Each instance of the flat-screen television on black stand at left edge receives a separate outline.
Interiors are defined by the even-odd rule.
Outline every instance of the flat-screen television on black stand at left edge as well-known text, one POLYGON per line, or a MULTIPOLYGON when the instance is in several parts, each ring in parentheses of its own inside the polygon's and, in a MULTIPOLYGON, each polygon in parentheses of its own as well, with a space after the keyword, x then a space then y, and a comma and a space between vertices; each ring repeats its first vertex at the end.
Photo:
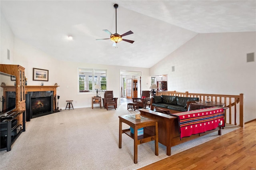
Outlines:
POLYGON ((0 72, 0 117, 16 108, 16 76, 0 72), (6 87, 6 91, 4 91, 6 87))

